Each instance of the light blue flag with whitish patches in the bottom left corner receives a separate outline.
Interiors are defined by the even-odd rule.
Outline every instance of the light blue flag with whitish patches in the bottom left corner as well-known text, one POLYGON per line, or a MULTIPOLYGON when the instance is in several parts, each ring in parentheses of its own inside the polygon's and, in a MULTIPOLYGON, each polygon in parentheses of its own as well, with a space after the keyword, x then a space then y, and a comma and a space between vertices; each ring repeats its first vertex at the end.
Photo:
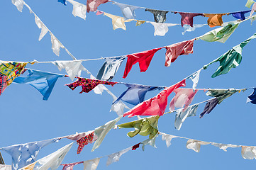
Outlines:
POLYGON ((23 166, 27 166, 35 162, 36 157, 40 149, 43 147, 57 142, 58 139, 43 140, 38 142, 30 142, 26 144, 12 145, 9 147, 2 147, 6 153, 10 154, 12 157, 12 169, 21 169, 23 166))

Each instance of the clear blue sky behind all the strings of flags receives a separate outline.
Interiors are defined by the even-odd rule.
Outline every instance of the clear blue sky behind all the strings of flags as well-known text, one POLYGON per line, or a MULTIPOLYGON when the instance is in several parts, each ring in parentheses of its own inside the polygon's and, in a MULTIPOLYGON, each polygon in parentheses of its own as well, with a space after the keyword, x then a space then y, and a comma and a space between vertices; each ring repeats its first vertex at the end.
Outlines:
MULTIPOLYGON (((182 35, 183 28, 174 26, 163 36, 154 36, 154 27, 150 23, 135 26, 135 21, 126 23, 127 30, 113 30, 111 19, 106 16, 96 16, 88 13, 87 19, 74 17, 72 15, 72 4, 67 6, 60 4, 57 0, 25 0, 38 17, 45 23, 52 33, 62 42, 77 59, 91 59, 99 57, 112 57, 128 55, 135 52, 150 50, 155 47, 172 45, 183 40, 190 40, 212 30, 204 26, 197 28, 194 32, 182 35)), ((77 0, 82 4, 86 1, 77 0)), ((233 11, 245 11, 246 1, 146 1, 146 0, 120 0, 118 2, 134 6, 148 8, 185 11, 195 13, 226 13, 233 11)), ((110 2, 99 6, 99 10, 106 11, 117 16, 122 16, 120 8, 110 2)), ((38 41, 40 29, 35 25, 34 16, 24 6, 23 12, 19 12, 11 0, 2 1, 1 11, 1 33, 0 33, 0 56, 1 60, 30 62, 72 60, 65 50, 60 50, 57 57, 51 49, 50 35, 45 35, 43 40, 38 41)), ((143 9, 135 11, 136 18, 153 21, 153 15, 143 9)), ((247 14, 248 16, 248 14, 247 14)), ((180 23, 179 14, 167 13, 166 23, 180 23)), ((223 21, 233 21, 233 16, 223 16, 223 21)), ((207 18, 197 16, 194 23, 207 23, 207 18)), ((216 27, 217 28, 217 27, 216 27)), ((126 60, 121 65, 113 81, 123 81, 132 84, 145 84, 154 86, 171 86, 178 81, 196 72, 204 64, 208 64, 220 57, 231 47, 238 45, 255 33, 255 23, 246 21, 241 23, 233 35, 226 41, 205 42, 196 40, 194 42, 194 54, 180 56, 170 67, 165 67, 165 49, 155 54, 146 72, 140 73, 138 64, 123 79, 123 71, 126 60)), ((228 74, 211 78, 218 67, 218 63, 212 64, 208 69, 201 71, 198 88, 211 89, 242 89, 256 86, 254 76, 255 67, 255 44, 252 40, 243 49, 243 60, 235 69, 228 74)), ((89 72, 96 76, 104 60, 83 62, 89 72)), ((66 74, 61 72, 53 64, 28 64, 27 68, 38 69, 46 72, 66 74)), ((89 78, 86 72, 81 77, 89 78)), ((0 97, 1 107, 1 145, 10 145, 48 140, 53 137, 72 135, 75 132, 86 132, 104 125, 109 120, 117 117, 116 113, 109 112, 113 98, 106 91, 102 95, 79 94, 81 87, 74 91, 64 86, 72 81, 69 78, 60 78, 48 101, 43 101, 43 96, 27 84, 11 84, 0 97)), ((187 87, 191 88, 190 80, 187 87)), ((107 86, 113 94, 119 96, 126 90, 122 84, 113 87, 107 86)), ((146 99, 155 96, 158 91, 149 92, 146 99)), ((204 118, 199 119, 199 114, 204 110, 204 104, 199 106, 196 116, 187 118, 181 130, 174 128, 174 113, 164 115, 159 119, 159 130, 170 135, 178 135, 196 140, 208 142, 219 142, 234 145, 256 146, 255 130, 255 106, 245 103, 252 90, 244 93, 234 94, 204 118)), ((172 100, 174 94, 169 96, 172 100)), ((206 92, 199 91, 193 103, 204 101, 209 96, 206 92)), ((133 106, 128 105, 130 108, 133 106)), ((169 110, 167 107, 166 111, 169 110)), ((119 123, 127 123, 136 118, 122 118, 119 123)), ((133 129, 111 130, 101 146, 91 152, 93 145, 84 147, 81 154, 77 155, 77 145, 65 157, 62 163, 80 162, 96 157, 105 156, 133 146, 138 142, 148 139, 136 135, 126 136, 133 129)), ((38 159, 55 152, 57 149, 72 142, 63 139, 60 142, 48 145, 41 149, 38 159)), ((252 169, 255 168, 255 160, 243 159, 241 148, 229 148, 224 152, 212 145, 201 146, 199 153, 186 147, 187 140, 174 139, 172 145, 167 148, 161 136, 157 137, 157 149, 147 146, 145 152, 141 148, 123 154, 119 162, 106 166, 106 158, 102 158, 98 169, 252 169)), ((1 152, 6 164, 11 164, 11 157, 1 152)), ((62 169, 62 167, 59 167, 62 169)), ((82 165, 74 166, 74 169, 82 169, 82 165)))

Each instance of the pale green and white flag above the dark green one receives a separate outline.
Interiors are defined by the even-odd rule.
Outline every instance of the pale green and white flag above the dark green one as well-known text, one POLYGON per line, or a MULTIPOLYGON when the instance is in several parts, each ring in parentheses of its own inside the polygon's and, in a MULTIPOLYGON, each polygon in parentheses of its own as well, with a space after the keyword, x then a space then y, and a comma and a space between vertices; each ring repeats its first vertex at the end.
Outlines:
POLYGON ((199 37, 201 40, 208 41, 208 42, 226 42, 230 35, 235 31, 236 28, 238 28, 240 22, 238 21, 231 21, 228 23, 224 23, 223 27, 217 28, 215 30, 211 30, 208 33, 205 33, 201 37, 199 37))

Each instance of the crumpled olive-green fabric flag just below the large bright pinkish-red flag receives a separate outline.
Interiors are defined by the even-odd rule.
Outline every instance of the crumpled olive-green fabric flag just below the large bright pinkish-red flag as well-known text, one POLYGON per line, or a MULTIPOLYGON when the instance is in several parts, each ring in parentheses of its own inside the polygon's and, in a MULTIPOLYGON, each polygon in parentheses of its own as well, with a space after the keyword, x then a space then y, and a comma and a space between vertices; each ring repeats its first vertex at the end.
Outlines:
POLYGON ((158 132, 158 119, 160 116, 151 116, 149 118, 142 118, 129 123, 123 123, 118 125, 118 128, 134 128, 133 132, 128 132, 128 137, 134 137, 135 135, 148 136, 150 139, 155 137, 158 132))

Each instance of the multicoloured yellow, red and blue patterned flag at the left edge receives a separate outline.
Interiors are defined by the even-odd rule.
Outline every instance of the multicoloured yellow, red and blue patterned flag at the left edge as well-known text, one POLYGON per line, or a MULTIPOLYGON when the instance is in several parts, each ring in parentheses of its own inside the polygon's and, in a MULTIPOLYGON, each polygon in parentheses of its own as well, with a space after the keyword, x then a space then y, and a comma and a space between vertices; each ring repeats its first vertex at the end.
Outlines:
POLYGON ((27 64, 27 62, 8 62, 0 60, 0 74, 6 76, 7 86, 24 72, 27 64))

